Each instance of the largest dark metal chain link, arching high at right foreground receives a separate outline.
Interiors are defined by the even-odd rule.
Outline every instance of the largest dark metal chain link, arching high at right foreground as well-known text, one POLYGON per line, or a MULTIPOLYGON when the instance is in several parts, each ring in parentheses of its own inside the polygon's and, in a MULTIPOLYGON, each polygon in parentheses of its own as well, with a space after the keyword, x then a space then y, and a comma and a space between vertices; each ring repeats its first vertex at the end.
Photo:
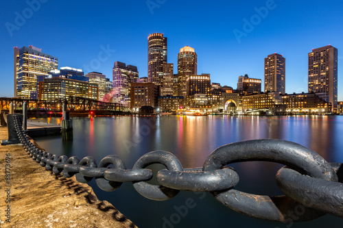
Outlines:
MULTIPOLYGON (((299 172, 325 180, 337 181, 335 170, 320 155, 294 142, 283 140, 250 140, 219 147, 211 153, 204 163, 204 170, 217 170, 227 164, 246 161, 278 162, 299 172)), ((285 222, 286 212, 295 210, 299 203, 289 197, 268 197, 248 194, 230 189, 211 192, 213 197, 236 212, 255 218, 285 222)), ((318 216, 313 209, 306 209, 299 221, 312 220, 318 216)))

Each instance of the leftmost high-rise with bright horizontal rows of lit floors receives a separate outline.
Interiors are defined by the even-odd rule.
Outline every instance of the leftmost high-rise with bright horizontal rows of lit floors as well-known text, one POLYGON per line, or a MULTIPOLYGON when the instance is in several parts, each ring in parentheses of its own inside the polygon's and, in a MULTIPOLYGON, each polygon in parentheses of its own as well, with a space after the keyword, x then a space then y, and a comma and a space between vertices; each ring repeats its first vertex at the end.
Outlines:
POLYGON ((14 47, 14 97, 30 98, 37 93, 37 76, 58 69, 58 58, 33 46, 14 47))

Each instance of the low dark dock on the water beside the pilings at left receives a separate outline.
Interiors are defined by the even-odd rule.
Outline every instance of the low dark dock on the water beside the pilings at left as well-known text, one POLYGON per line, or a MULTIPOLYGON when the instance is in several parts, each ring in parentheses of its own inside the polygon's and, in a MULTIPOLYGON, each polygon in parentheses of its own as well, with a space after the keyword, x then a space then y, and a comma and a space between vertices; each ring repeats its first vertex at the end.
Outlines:
POLYGON ((27 121, 27 135, 29 137, 38 136, 58 136, 61 134, 62 126, 51 123, 27 121))

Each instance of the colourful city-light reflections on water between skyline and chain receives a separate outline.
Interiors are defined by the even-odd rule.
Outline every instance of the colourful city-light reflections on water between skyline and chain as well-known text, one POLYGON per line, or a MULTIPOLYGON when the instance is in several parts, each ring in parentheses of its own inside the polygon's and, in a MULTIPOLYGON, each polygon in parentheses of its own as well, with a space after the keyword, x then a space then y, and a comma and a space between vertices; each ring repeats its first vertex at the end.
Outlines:
MULTIPOLYGON (((33 121, 58 123, 60 118, 33 121)), ((63 150, 80 156, 117 154, 132 161, 132 156, 165 150, 176 154, 185 167, 194 167, 202 166, 206 157, 224 144, 276 138, 309 147, 331 162, 342 162, 342 116, 117 116, 73 118, 73 128, 74 140, 64 143, 63 150)), ((45 144, 49 140, 38 139, 50 148, 45 144)), ((54 144, 61 148, 62 142, 54 144)))

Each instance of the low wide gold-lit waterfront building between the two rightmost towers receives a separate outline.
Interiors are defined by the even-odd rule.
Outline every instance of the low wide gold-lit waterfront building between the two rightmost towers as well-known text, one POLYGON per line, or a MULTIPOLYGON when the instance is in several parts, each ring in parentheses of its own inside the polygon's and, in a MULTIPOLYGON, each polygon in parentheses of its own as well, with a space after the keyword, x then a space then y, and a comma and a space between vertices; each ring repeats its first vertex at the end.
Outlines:
POLYGON ((321 98, 320 93, 283 94, 282 101, 288 114, 322 114, 331 111, 329 102, 321 98))

